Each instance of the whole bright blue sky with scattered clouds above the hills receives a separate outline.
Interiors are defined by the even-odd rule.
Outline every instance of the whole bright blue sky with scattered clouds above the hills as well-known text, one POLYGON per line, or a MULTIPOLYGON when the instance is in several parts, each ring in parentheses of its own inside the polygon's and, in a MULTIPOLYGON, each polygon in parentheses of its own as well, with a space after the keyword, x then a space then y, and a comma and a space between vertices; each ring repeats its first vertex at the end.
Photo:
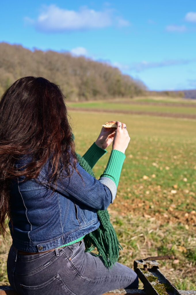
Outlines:
POLYGON ((150 90, 196 89, 196 1, 1 1, 0 42, 114 65, 150 90))

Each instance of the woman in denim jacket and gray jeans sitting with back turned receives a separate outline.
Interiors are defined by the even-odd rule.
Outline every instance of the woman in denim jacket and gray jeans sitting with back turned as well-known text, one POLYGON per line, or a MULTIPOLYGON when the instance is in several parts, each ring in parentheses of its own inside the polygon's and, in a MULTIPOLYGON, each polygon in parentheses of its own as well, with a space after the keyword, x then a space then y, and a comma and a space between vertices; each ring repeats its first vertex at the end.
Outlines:
POLYGON ((84 252, 83 238, 100 226, 96 210, 113 202, 124 152, 126 125, 102 128, 83 158, 92 168, 113 142, 99 180, 77 162, 64 97, 45 78, 17 80, 0 101, 0 229, 6 216, 13 240, 7 273, 19 294, 103 294, 137 288, 130 268, 103 264, 84 252))

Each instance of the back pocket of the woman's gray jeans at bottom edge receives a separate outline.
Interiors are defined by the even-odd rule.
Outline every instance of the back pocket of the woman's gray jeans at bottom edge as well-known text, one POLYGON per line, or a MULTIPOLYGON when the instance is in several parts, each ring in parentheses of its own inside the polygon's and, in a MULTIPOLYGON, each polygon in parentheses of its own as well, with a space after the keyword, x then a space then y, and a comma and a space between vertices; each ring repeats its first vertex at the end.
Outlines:
POLYGON ((20 287, 24 295, 75 295, 67 288, 58 273, 41 285, 25 286, 21 284, 20 287))

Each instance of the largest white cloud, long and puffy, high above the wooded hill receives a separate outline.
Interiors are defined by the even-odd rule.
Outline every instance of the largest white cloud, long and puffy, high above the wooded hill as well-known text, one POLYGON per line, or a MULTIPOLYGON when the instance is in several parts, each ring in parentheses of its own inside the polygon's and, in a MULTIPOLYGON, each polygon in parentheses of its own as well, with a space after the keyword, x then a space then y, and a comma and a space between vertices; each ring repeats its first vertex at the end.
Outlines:
POLYGON ((94 9, 81 7, 79 11, 74 11, 61 9, 51 4, 42 7, 42 12, 36 20, 29 19, 28 17, 25 17, 25 20, 42 32, 88 30, 109 27, 115 24, 120 27, 129 25, 128 21, 113 14, 112 9, 95 11, 94 9))

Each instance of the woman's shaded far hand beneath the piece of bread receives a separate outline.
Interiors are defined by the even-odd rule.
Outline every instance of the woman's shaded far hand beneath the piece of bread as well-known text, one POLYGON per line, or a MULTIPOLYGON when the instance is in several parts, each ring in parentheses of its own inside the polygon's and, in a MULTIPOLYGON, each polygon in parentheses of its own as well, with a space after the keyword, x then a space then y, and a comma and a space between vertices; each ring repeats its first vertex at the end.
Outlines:
POLYGON ((113 142, 114 135, 115 135, 114 128, 102 127, 100 135, 98 136, 97 140, 95 141, 95 144, 98 145, 98 147, 105 150, 113 142))

